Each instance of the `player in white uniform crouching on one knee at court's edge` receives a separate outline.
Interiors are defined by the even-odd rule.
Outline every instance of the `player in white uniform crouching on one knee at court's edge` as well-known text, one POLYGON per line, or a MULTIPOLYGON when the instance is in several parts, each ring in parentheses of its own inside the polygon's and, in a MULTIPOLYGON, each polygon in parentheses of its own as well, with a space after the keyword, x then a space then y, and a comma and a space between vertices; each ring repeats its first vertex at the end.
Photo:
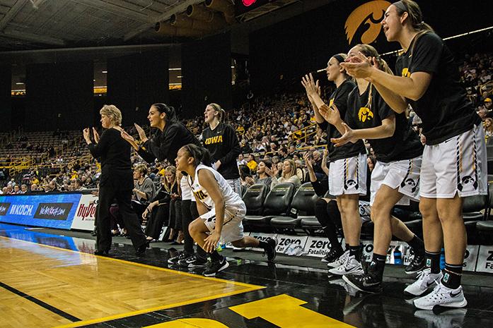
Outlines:
POLYGON ((238 248, 263 248, 267 260, 273 261, 277 242, 272 238, 259 241, 243 235, 245 203, 223 176, 210 167, 209 152, 194 144, 185 145, 178 150, 175 162, 178 171, 188 174, 187 181, 197 199, 200 217, 192 221, 189 231, 194 241, 211 257, 204 276, 213 277, 229 266, 226 258, 216 251, 219 241, 231 242, 238 248))

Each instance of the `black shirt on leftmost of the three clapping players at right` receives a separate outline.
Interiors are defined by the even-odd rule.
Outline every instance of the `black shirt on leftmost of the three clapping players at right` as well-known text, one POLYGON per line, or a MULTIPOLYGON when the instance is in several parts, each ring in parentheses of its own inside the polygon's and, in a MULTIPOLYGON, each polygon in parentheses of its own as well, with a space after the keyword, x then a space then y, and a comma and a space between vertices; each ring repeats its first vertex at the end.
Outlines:
MULTIPOLYGON (((339 114, 341 119, 344 120, 347 113, 347 97, 349 96, 349 92, 351 92, 356 85, 351 80, 345 80, 337 89, 332 92, 330 95, 329 106, 335 104, 337 109, 339 109, 339 114)), ((344 159, 349 157, 354 157, 358 154, 363 154, 365 152, 364 143, 361 140, 358 140, 355 143, 348 142, 346 145, 342 147, 335 147, 335 145, 330 142, 331 138, 340 138, 341 134, 339 130, 332 126, 332 124, 327 123, 327 121, 323 121, 323 123, 318 123, 318 126, 322 130, 327 131, 327 157, 329 158, 329 162, 335 162, 338 159, 344 159)))

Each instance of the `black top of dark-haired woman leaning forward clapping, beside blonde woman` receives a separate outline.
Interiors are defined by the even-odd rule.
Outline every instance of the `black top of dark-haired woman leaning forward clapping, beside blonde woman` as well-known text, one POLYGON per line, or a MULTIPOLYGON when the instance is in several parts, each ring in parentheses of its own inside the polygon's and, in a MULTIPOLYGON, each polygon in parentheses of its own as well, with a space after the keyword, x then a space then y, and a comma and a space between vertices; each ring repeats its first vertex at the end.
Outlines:
POLYGON ((144 142, 144 149, 139 148, 138 153, 148 163, 154 162, 155 159, 158 159, 159 162, 168 159, 174 165, 178 150, 189 143, 200 146, 195 135, 177 121, 166 124, 163 132, 158 130, 153 138, 144 142))

